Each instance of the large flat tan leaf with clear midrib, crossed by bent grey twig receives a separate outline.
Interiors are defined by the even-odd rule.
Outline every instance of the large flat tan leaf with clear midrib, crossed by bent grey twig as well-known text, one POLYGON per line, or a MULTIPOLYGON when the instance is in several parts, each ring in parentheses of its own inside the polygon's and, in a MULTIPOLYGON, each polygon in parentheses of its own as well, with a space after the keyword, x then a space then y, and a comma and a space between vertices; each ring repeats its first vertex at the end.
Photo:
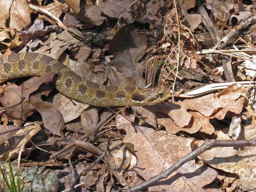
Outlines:
MULTIPOLYGON (((116 116, 116 125, 118 129, 126 131, 123 142, 137 156, 137 165, 132 170, 144 180, 163 172, 180 157, 191 152, 191 144, 194 142, 193 138, 170 136, 162 131, 154 132, 153 129, 133 125, 120 115, 116 116)), ((202 188, 217 175, 215 170, 190 161, 167 179, 148 187, 148 190, 204 191, 202 188)))

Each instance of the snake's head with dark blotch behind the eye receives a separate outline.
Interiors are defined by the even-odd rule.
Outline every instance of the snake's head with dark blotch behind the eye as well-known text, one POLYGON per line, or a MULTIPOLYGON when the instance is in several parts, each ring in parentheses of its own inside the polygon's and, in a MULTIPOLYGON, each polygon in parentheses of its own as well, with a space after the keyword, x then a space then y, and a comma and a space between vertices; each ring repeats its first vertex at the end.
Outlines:
POLYGON ((143 106, 162 102, 171 96, 171 89, 162 85, 160 87, 137 90, 132 94, 131 99, 134 106, 143 106))

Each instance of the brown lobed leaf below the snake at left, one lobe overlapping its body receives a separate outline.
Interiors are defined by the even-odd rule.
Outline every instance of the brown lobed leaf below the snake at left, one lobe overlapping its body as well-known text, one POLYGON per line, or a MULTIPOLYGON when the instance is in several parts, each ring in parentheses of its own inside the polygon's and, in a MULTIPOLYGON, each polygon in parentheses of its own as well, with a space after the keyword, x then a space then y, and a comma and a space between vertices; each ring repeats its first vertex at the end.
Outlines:
POLYGON ((54 72, 49 72, 41 77, 33 77, 20 86, 8 82, 7 85, 3 87, 4 94, 0 97, 0 102, 4 107, 13 106, 19 103, 22 97, 25 98, 22 104, 6 109, 8 118, 16 125, 21 126, 27 117, 34 112, 34 107, 29 102, 29 95, 36 91, 44 82, 51 82, 54 75, 54 72))

